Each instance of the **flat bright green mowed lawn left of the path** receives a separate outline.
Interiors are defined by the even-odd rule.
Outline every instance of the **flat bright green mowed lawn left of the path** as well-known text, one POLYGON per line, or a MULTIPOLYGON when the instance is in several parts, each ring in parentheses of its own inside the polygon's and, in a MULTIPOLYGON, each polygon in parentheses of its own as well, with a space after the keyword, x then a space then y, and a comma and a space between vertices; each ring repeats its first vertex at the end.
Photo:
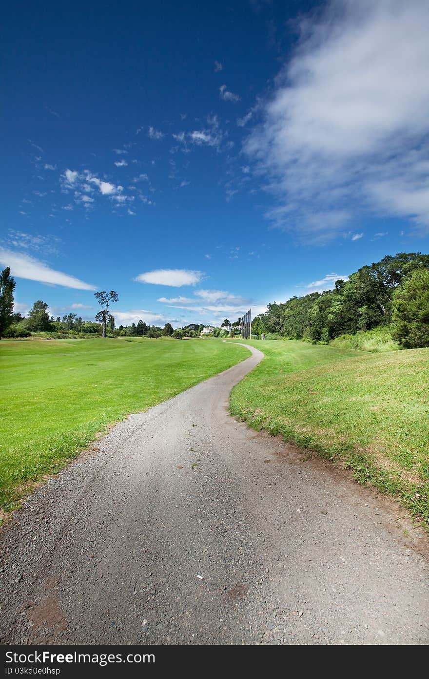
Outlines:
POLYGON ((217 339, 0 342, 0 507, 96 433, 246 359, 217 339))

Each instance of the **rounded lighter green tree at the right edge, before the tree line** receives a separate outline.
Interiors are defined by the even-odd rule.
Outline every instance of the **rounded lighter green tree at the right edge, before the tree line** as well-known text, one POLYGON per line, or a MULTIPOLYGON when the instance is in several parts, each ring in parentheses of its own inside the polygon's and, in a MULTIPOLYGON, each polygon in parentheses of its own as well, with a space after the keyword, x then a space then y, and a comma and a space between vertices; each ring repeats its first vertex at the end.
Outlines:
POLYGON ((393 339, 406 349, 429 346, 429 270, 416 269, 393 297, 393 339))

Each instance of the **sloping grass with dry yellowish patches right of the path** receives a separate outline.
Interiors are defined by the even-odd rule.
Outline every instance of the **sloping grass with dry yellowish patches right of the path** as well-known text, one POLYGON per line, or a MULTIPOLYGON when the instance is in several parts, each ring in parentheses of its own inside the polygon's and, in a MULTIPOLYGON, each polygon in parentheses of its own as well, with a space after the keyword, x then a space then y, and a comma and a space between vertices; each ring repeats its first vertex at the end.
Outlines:
POLYGON ((232 415, 342 464, 429 528, 429 349, 247 344, 266 359, 232 390, 232 415))

